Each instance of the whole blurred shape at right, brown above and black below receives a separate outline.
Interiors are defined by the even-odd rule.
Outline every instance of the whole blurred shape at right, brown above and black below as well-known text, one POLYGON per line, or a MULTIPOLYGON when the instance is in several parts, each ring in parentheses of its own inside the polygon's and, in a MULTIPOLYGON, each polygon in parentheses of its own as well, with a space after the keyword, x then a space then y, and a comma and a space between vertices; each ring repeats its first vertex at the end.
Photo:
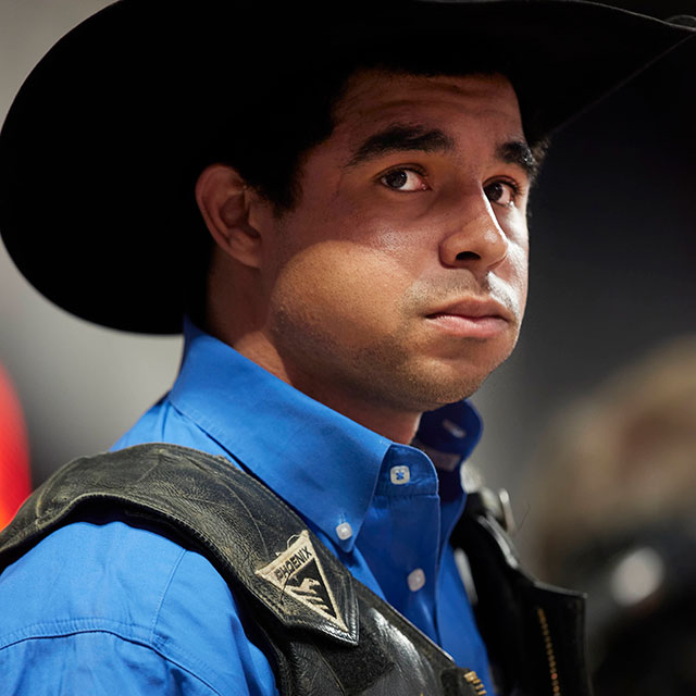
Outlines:
POLYGON ((537 572, 589 596, 597 696, 696 693, 696 337, 572 405, 531 478, 537 572))

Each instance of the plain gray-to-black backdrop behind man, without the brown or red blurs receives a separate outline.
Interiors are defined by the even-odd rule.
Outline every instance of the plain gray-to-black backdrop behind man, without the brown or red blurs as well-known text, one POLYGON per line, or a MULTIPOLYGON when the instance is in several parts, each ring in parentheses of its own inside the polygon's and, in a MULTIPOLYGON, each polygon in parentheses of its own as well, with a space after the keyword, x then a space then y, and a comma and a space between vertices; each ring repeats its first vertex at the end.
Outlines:
MULTIPOLYGON (((0 0, 0 119, 46 50, 105 4, 0 0)), ((696 0, 616 4, 659 17, 696 14, 696 0)), ((519 520, 533 514, 530 465, 549 418, 625 362, 696 330, 692 44, 559 135, 533 197, 522 339, 474 399, 486 427, 473 461, 513 493, 519 520)), ((29 287, 0 248, 0 360, 24 405, 35 484, 108 448, 166 390, 179 353, 178 338, 72 318, 29 287)))

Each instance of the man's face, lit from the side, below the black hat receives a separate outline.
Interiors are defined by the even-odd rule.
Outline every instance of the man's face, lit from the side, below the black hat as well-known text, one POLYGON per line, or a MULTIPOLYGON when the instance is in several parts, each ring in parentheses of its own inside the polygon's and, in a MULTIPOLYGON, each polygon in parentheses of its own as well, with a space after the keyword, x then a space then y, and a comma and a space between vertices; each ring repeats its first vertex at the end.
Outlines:
POLYGON ((355 75, 268 223, 265 332, 293 383, 408 412, 472 394, 519 335, 530 158, 501 76, 355 75))

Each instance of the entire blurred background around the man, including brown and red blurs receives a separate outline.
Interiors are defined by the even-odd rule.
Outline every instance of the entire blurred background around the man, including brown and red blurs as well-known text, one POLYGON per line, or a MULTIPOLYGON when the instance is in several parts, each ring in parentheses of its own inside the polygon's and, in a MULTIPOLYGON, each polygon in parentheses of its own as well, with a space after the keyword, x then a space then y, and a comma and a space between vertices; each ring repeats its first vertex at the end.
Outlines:
MULTIPOLYGON (((107 4, 0 0, 0 121, 40 57, 107 4)), ((696 0, 610 4, 660 18, 696 15, 696 0)), ((696 549, 695 86, 691 41, 555 138, 532 199, 522 337, 473 399, 485 421, 473 465, 490 487, 510 492, 527 563, 546 580, 593 589, 597 632, 621 608, 645 616, 659 605, 664 538, 681 539, 674 558, 696 549), (626 576, 634 585, 621 585, 626 576)), ((14 423, 17 471, 28 456, 35 486, 128 428, 169 388, 181 348, 177 337, 124 334, 66 314, 24 281, 0 245, 0 363, 4 413, 12 412, 0 428, 14 423)), ((13 485, 15 497, 28 487, 21 474, 13 485)), ((679 568, 696 580, 691 566, 679 568)), ((679 612, 693 619, 688 607, 679 612)), ((684 631, 681 643, 691 646, 680 654, 688 669, 694 633, 684 631)), ((596 664, 617 635, 593 638, 596 664)), ((689 674, 694 682, 684 678, 674 693, 692 693, 689 674)), ((643 693, 635 684, 617 688, 599 693, 643 693)))

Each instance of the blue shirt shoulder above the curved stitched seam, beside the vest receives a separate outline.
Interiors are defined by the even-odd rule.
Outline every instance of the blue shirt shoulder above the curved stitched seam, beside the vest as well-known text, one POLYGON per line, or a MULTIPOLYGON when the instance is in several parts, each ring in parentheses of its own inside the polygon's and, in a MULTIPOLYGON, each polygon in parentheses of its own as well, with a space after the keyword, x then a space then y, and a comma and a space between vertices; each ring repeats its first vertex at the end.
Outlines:
POLYGON ((215 688, 268 668, 212 564, 119 519, 63 526, 9 566, 0 575, 0 650, 115 636, 215 688))

